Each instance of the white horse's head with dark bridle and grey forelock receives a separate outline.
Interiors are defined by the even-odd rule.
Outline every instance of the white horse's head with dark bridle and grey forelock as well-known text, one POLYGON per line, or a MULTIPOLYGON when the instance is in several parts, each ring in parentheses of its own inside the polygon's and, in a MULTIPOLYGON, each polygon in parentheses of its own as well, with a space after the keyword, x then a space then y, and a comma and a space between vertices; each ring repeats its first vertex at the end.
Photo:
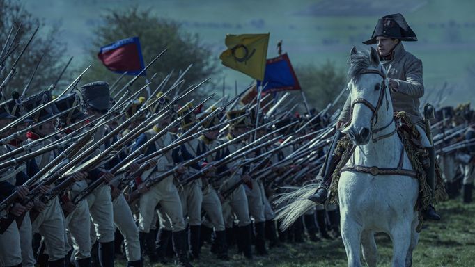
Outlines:
POLYGON ((388 113, 392 115, 385 77, 384 67, 373 47, 369 53, 357 51, 356 47, 351 49, 348 88, 352 120, 348 134, 356 145, 368 144, 375 125, 386 122, 388 113))

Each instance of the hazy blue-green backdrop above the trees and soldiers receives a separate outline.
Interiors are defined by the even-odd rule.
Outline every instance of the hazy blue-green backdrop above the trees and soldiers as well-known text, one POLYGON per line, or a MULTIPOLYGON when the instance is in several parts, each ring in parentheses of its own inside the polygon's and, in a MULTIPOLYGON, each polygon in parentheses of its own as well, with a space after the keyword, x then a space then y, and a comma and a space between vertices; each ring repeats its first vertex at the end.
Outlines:
MULTIPOLYGON (((471 80, 475 72, 475 1, 424 0, 26 0, 24 6, 47 26, 61 22, 62 38, 68 44, 68 55, 83 64, 86 50, 94 36, 91 29, 101 22, 110 9, 124 9, 134 4, 153 14, 175 19, 183 29, 198 33, 216 59, 224 47, 226 33, 270 32, 268 58, 277 56, 275 45, 283 40, 293 65, 334 62, 341 70, 348 67, 347 58, 353 45, 371 37, 379 17, 403 13, 419 42, 406 44, 407 50, 423 60, 427 88, 439 90, 444 82, 451 85, 448 104, 474 101, 471 80)), ((127 38, 130 36, 124 36, 127 38)), ((368 48, 368 47, 366 47, 368 48)), ((99 50, 99 47, 97 48, 99 50)), ((99 62, 93 62, 99 64, 99 62)), ((226 76, 226 85, 234 81, 248 84, 251 79, 226 67, 214 79, 226 76)))

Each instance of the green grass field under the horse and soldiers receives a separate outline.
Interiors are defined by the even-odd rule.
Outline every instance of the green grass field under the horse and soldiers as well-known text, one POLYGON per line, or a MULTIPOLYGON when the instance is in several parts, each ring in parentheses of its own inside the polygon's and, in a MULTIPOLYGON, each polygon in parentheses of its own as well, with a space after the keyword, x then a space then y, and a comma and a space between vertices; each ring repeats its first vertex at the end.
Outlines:
MULTIPOLYGON (((442 216, 439 223, 426 223, 421 232, 419 245, 414 251, 413 266, 475 266, 475 204, 462 204, 461 200, 449 200, 438 205, 442 216)), ((391 266, 391 242, 389 237, 378 235, 379 266, 391 266)), ((246 261, 231 250, 231 261, 217 261, 211 256, 208 246, 202 252, 202 259, 194 266, 346 266, 346 254, 341 238, 334 241, 299 244, 285 244, 270 250, 269 257, 255 257, 246 261)), ((125 261, 117 261, 124 266, 125 261)), ((150 266, 146 261, 146 266, 150 266)), ((154 266, 164 266, 156 264, 154 266)))

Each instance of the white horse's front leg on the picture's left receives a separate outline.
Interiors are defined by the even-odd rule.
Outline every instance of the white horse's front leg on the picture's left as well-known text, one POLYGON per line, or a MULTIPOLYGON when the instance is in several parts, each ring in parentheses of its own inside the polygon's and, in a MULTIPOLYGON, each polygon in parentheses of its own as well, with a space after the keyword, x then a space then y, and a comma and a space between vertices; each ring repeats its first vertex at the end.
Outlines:
POLYGON ((361 266, 361 231, 361 225, 348 213, 341 214, 341 237, 345 244, 349 267, 361 266))

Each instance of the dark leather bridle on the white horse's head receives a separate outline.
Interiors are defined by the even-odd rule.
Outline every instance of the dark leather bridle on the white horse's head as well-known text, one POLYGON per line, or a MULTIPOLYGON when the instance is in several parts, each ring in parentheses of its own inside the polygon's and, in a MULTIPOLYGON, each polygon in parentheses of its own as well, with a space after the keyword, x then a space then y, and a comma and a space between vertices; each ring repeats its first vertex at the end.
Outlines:
MULTIPOLYGON (((371 136, 373 136, 375 133, 379 133, 380 131, 386 129, 387 127, 391 126, 391 124, 394 122, 394 118, 389 122, 389 124, 385 125, 384 127, 373 129, 374 125, 377 123, 377 113, 380 111, 380 108, 382 106, 382 100, 383 98, 386 99, 386 108, 387 110, 389 109, 389 100, 387 99, 387 94, 386 94, 386 75, 384 74, 383 70, 374 70, 374 69, 366 69, 362 70, 359 74, 377 74, 381 76, 382 82, 380 86, 380 95, 377 98, 377 104, 376 106, 373 106, 368 100, 364 98, 357 98, 355 99, 352 104, 351 104, 351 113, 353 113, 353 108, 355 108, 355 104, 364 104, 367 108, 369 108, 372 112, 373 115, 371 116, 371 136)), ((373 138, 373 142, 377 142, 378 140, 387 138, 389 136, 392 136, 394 133, 396 133, 396 129, 392 131, 391 133, 385 134, 383 136, 379 136, 377 138, 373 138)))

